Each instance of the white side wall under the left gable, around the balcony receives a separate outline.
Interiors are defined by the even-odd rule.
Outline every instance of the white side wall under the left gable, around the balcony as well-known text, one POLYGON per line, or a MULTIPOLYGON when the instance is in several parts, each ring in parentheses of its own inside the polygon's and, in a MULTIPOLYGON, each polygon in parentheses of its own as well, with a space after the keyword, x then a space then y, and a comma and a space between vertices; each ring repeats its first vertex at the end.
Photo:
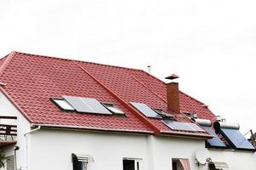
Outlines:
MULTIPOLYGON (((1 116, 17 116, 17 120, 15 121, 2 121, 1 123, 9 123, 17 125, 17 144, 20 146, 20 150, 17 151, 17 167, 26 167, 26 138, 24 137, 24 133, 30 130, 30 123, 27 122, 26 118, 20 114, 14 105, 9 102, 3 93, 0 93, 0 115, 1 116)), ((4 148, 6 156, 14 155, 14 146, 10 145, 4 148)))

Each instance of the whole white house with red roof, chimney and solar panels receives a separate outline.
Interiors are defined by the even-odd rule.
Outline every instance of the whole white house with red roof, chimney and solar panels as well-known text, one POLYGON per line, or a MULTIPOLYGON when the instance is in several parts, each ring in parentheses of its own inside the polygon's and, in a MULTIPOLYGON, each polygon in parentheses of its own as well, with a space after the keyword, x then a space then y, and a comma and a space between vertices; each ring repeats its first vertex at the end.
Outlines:
POLYGON ((256 167, 239 125, 180 92, 176 75, 166 84, 141 70, 18 52, 0 65, 2 169, 256 167))

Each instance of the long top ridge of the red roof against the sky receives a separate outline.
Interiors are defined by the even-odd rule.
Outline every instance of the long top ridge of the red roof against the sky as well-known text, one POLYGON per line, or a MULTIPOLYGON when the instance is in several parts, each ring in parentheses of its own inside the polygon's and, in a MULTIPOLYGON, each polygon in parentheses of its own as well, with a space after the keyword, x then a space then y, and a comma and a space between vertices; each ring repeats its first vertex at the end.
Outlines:
POLYGON ((55 57, 55 56, 49 56, 49 55, 40 55, 40 54, 27 54, 27 53, 21 53, 14 51, 16 54, 25 54, 25 55, 31 55, 35 57, 44 57, 44 58, 49 58, 49 59, 61 59, 61 60, 67 60, 67 61, 75 61, 75 62, 82 62, 82 63, 88 63, 92 65, 103 65, 103 66, 109 66, 109 67, 115 67, 119 69, 126 69, 126 70, 131 70, 131 71, 143 71, 142 69, 133 69, 133 68, 128 68, 124 66, 117 66, 117 65, 108 65, 108 64, 100 64, 92 61, 84 61, 84 60, 79 60, 79 59, 63 59, 62 57, 55 57))

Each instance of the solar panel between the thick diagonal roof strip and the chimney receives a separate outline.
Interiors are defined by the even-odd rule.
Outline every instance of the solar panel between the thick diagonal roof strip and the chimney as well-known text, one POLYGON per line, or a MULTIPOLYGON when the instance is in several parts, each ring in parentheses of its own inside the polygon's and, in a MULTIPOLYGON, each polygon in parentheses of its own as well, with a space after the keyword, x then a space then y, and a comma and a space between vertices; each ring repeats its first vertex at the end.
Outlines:
POLYGON ((136 102, 130 102, 138 111, 142 112, 143 115, 153 118, 161 118, 159 114, 153 111, 148 105, 136 102))

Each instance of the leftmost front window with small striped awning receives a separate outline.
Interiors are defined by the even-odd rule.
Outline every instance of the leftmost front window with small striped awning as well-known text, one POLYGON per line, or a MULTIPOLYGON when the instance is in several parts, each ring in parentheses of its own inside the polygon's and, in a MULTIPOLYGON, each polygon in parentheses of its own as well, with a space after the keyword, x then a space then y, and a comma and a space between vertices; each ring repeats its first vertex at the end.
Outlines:
POLYGON ((72 154, 73 170, 87 170, 89 162, 94 162, 92 156, 72 154))

